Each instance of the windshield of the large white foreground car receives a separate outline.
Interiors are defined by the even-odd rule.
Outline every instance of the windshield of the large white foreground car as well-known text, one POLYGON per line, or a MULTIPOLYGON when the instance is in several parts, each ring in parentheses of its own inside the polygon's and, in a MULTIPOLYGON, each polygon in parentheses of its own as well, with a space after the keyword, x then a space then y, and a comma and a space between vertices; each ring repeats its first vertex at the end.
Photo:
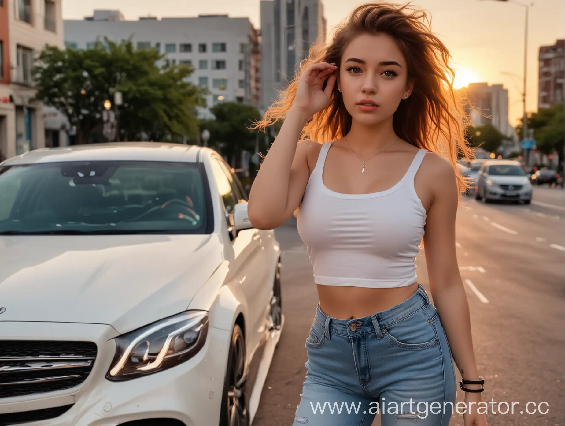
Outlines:
POLYGON ((197 163, 0 167, 0 235, 204 234, 206 188, 197 163))

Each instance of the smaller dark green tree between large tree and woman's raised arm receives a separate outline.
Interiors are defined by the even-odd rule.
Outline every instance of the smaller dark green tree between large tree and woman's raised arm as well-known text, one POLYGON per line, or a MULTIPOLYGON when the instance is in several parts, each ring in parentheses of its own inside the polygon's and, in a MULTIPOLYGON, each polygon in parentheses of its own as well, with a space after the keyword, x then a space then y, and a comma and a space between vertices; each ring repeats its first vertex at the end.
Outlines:
POLYGON ((201 131, 205 128, 210 131, 208 145, 227 157, 234 167, 243 150, 255 150, 258 131, 249 127, 260 118, 259 110, 253 105, 222 102, 212 106, 210 112, 215 119, 201 121, 201 131))

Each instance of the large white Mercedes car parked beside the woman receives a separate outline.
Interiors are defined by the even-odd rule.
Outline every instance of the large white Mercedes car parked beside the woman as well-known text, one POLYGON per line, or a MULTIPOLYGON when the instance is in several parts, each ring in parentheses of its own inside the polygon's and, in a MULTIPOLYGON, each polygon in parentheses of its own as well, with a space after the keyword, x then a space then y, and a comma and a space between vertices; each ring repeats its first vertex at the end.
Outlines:
POLYGON ((1 163, 0 424, 250 424, 284 325, 280 253, 209 148, 1 163))

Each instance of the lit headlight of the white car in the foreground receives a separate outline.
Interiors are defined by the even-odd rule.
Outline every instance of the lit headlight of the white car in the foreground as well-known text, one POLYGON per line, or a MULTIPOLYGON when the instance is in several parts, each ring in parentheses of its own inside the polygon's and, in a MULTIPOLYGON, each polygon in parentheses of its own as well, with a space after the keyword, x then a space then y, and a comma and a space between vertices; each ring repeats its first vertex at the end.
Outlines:
POLYGON ((186 311, 120 335, 106 378, 129 380, 174 367, 197 354, 207 334, 208 312, 186 311))

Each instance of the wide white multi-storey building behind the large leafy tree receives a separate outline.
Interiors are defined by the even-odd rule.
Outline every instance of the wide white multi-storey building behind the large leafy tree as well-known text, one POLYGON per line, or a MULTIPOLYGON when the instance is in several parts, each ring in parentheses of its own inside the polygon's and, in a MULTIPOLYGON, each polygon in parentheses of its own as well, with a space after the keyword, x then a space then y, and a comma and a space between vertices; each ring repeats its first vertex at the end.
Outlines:
POLYGON ((65 20, 64 37, 74 49, 88 49, 103 37, 115 42, 131 38, 136 49, 165 54, 159 65, 193 66, 190 81, 210 91, 207 108, 198 109, 199 118, 212 118, 208 108, 219 102, 259 106, 259 32, 248 18, 199 15, 125 20, 119 11, 95 10, 84 20, 65 20))

